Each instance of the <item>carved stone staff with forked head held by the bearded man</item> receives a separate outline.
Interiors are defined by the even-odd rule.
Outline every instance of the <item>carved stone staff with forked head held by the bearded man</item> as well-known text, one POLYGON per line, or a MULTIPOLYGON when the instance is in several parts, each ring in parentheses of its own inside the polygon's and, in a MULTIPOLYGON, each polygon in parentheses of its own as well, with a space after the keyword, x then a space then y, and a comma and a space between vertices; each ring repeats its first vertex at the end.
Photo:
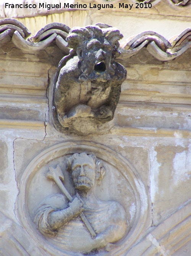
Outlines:
MULTIPOLYGON (((68 191, 66 190, 65 186, 62 183, 64 181, 64 175, 63 175, 62 170, 59 165, 57 165, 57 167, 55 169, 52 167, 49 167, 49 172, 47 172, 46 177, 51 180, 54 180, 57 183, 60 190, 62 191, 62 193, 68 198, 68 200, 70 202, 73 201, 73 198, 71 197, 70 193, 68 193, 68 191)), ((96 236, 95 231, 93 230, 92 226, 89 224, 84 213, 80 213, 79 216, 81 217, 81 220, 85 224, 85 226, 86 226, 87 230, 89 231, 89 233, 91 234, 91 236, 94 238, 96 236)))

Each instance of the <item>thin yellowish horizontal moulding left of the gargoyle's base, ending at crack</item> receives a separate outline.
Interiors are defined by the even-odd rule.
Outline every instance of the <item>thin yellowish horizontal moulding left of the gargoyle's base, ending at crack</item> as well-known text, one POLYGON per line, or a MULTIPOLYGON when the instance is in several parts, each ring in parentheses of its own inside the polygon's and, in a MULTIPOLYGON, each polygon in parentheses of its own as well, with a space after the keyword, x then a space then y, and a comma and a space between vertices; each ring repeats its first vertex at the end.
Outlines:
POLYGON ((44 129, 44 122, 0 119, 0 129, 44 129))

